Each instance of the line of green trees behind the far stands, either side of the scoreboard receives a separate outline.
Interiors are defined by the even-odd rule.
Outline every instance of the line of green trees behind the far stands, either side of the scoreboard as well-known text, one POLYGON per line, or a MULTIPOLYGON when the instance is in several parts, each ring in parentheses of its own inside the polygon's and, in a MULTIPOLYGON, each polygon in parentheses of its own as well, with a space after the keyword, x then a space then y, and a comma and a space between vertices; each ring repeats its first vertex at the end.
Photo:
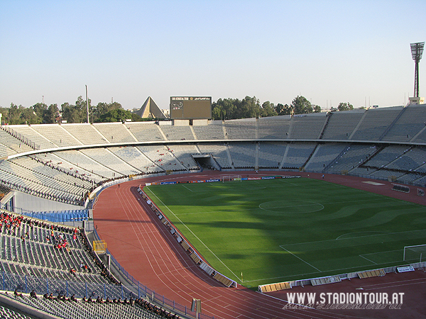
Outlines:
MULTIPOLYGON (((332 111, 348 111, 354 106, 349 102, 339 103, 337 109, 332 111)), ((266 116, 282 116, 290 114, 320 113, 321 107, 312 105, 305 96, 296 96, 289 104, 274 104, 270 101, 261 103, 256 96, 246 96, 244 99, 218 99, 212 103, 213 120, 233 120, 237 118, 260 118, 266 116)), ((11 103, 9 108, 0 107, 2 113, 2 123, 8 124, 41 124, 58 123, 58 121, 67 121, 67 123, 87 123, 87 102, 79 96, 74 104, 68 102, 62 103, 60 108, 58 104, 35 103, 26 108, 11 103), (60 115, 62 118, 60 118, 60 115)), ((131 111, 124 110, 118 102, 99 102, 97 106, 92 106, 89 99, 89 122, 119 122, 131 119, 132 121, 143 121, 131 111)))

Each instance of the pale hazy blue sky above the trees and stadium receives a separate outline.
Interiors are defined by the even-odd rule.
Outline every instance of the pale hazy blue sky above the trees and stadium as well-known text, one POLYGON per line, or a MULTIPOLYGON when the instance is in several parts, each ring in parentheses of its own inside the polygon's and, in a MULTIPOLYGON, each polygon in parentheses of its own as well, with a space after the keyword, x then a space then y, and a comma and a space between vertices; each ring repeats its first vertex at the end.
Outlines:
POLYGON ((148 96, 402 105, 425 14, 425 0, 0 0, 0 106, 75 103, 85 84, 92 105, 124 108, 148 96))

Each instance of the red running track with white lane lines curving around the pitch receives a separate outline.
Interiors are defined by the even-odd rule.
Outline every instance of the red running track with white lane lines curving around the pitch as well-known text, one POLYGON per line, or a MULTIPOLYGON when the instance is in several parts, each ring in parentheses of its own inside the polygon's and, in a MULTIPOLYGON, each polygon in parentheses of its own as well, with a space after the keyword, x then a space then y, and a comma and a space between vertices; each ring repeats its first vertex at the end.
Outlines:
MULTIPOLYGON (((359 311, 337 313, 335 310, 283 309, 288 303, 279 298, 256 293, 242 286, 237 289, 226 288, 197 267, 136 191, 139 184, 154 180, 206 179, 219 174, 221 173, 182 174, 138 179, 122 183, 120 186, 111 186, 102 191, 94 206, 93 216, 97 233, 107 242, 108 250, 114 258, 141 284, 188 308, 192 298, 201 299, 202 313, 214 315, 214 318, 374 318, 368 316, 366 312, 359 311)), ((245 176, 253 172, 238 172, 238 174, 245 176)), ((262 174, 295 173, 262 172, 262 174)), ((318 179, 320 174, 310 173, 310 178, 318 179)), ((331 181, 332 177, 327 175, 326 178, 331 181)), ((356 188, 364 186, 371 188, 370 184, 360 181, 361 179, 346 177, 337 182, 351 184, 350 186, 356 188)), ((368 189, 368 191, 375 190, 368 189)), ((393 191, 391 195, 393 193, 400 196, 398 192, 393 191)), ((422 288, 425 288, 424 285, 422 288)), ((338 292, 337 289, 335 291, 338 292)), ((402 318, 400 315, 399 312, 395 318, 402 318)))

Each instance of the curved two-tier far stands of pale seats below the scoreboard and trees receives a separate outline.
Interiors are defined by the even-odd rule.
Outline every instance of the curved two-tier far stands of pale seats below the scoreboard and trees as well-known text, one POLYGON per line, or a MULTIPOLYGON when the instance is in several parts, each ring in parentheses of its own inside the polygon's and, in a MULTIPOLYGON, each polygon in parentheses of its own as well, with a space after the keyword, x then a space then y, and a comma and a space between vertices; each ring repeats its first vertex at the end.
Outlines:
POLYGON ((212 121, 198 126, 153 122, 6 125, 0 130, 0 158, 9 159, 0 162, 1 184, 78 206, 84 194, 102 182, 197 170, 200 167, 192 155, 208 154, 220 169, 303 168, 377 179, 396 177, 421 186, 426 174, 420 144, 426 141, 424 107, 212 121), (182 140, 188 144, 178 143, 182 140), (364 142, 372 140, 380 144, 364 142), (107 147, 111 143, 114 146, 107 147), (102 147, 82 148, 99 144, 102 147), (58 150, 43 152, 46 148, 58 150), (35 154, 19 157, 23 152, 35 154))

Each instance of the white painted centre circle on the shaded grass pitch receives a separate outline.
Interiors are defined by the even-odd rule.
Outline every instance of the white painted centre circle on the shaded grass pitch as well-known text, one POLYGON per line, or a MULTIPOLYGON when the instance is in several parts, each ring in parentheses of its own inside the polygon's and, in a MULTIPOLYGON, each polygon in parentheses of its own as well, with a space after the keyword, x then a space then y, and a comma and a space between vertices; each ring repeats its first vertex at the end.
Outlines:
POLYGON ((261 203, 259 208, 263 211, 273 211, 277 213, 299 214, 299 213, 314 213, 322 211, 324 206, 313 201, 295 201, 292 199, 285 201, 266 201, 261 203))

